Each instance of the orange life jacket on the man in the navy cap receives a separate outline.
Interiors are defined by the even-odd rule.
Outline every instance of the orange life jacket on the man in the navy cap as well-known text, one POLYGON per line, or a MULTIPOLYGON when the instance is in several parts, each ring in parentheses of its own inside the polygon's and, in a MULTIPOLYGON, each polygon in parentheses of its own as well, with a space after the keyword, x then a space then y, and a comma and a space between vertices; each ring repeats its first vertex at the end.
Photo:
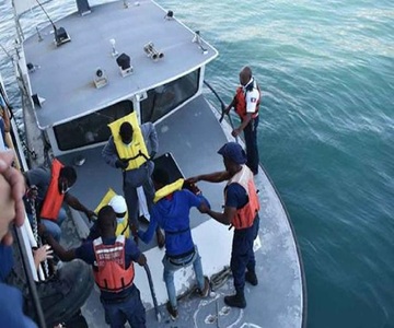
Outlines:
POLYGON ((227 187, 224 188, 224 198, 227 197, 227 188, 231 184, 240 184, 246 190, 248 198, 247 203, 243 208, 236 209, 236 213, 232 219, 231 224, 236 230, 250 227, 253 225, 253 221, 259 210, 259 201, 252 171, 246 165, 242 165, 242 169, 228 181, 227 187))

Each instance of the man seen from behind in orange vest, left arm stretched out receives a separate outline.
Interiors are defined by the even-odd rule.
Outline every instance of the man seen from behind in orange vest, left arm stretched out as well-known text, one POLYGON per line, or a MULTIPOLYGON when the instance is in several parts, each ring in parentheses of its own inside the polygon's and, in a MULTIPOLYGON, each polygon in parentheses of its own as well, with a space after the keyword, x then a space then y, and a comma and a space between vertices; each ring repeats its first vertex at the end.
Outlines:
POLYGON ((124 327, 126 321, 132 328, 146 327, 146 311, 140 292, 134 284, 134 261, 140 266, 147 258, 129 238, 116 236, 116 214, 111 206, 99 212, 97 226, 101 236, 88 241, 78 248, 63 249, 48 234, 44 225, 40 234, 62 261, 82 259, 93 267, 94 280, 101 291, 101 302, 105 311, 105 321, 113 328, 124 327))

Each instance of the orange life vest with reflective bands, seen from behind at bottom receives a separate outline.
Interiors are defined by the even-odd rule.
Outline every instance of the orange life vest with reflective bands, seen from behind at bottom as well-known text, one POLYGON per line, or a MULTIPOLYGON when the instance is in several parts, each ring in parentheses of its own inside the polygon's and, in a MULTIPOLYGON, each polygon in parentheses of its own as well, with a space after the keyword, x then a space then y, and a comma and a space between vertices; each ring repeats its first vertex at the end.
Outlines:
POLYGON ((125 236, 116 237, 115 244, 104 245, 102 238, 93 241, 94 247, 94 280, 100 290, 118 293, 132 284, 134 263, 126 268, 125 236))

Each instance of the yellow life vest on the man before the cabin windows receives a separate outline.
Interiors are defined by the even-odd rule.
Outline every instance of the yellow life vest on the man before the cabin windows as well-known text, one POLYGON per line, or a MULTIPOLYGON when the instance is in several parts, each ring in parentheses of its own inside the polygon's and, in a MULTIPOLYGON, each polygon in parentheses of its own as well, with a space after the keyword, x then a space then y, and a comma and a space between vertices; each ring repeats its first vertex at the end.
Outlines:
POLYGON ((136 169, 140 167, 149 159, 148 149, 143 140, 141 128, 138 125, 137 113, 132 112, 108 125, 112 136, 114 138, 116 151, 120 160, 136 157, 138 154, 143 154, 137 156, 135 160, 129 161, 126 171, 136 169), (123 122, 128 121, 132 126, 132 141, 131 144, 127 145, 121 141, 119 129, 123 122))

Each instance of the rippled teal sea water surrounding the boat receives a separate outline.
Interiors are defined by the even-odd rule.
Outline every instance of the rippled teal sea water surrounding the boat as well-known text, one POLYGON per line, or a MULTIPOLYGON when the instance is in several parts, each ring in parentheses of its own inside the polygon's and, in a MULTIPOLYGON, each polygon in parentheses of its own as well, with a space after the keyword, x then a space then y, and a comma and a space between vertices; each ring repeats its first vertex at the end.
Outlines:
MULTIPOLYGON (((308 327, 394 327, 393 0, 158 2, 217 47, 207 80, 224 102, 245 65, 260 84, 260 162, 301 247, 308 327)), ((9 0, 0 11, 12 54, 9 0)))

